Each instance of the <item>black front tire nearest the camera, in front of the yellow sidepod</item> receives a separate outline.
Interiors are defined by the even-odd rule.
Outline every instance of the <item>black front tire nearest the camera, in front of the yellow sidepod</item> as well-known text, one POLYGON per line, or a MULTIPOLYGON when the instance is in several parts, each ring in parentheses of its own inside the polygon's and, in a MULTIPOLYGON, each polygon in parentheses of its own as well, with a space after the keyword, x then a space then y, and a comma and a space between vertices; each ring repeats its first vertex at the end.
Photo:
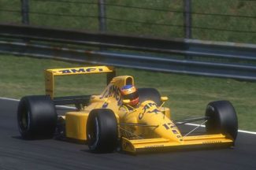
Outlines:
POLYGON ((87 142, 95 153, 110 153, 117 148, 117 119, 110 109, 93 109, 87 119, 87 142))

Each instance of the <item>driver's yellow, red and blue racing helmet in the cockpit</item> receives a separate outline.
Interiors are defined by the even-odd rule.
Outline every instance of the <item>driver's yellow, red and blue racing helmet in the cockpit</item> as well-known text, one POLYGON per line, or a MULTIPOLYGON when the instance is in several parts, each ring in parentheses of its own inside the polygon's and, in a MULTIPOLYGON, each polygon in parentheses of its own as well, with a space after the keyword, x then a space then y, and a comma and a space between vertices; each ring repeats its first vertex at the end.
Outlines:
POLYGON ((139 93, 133 85, 125 85, 124 87, 121 87, 121 95, 124 100, 130 100, 128 105, 137 105, 139 103, 139 93))

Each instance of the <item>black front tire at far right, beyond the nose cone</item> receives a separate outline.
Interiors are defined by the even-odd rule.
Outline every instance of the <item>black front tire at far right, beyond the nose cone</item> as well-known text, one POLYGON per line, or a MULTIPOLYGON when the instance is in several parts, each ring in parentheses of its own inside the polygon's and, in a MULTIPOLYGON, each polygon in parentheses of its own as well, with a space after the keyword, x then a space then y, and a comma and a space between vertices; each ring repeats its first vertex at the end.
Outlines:
POLYGON ((223 133, 234 141, 238 131, 236 110, 231 102, 216 101, 210 102, 206 107, 206 131, 210 134, 223 133))

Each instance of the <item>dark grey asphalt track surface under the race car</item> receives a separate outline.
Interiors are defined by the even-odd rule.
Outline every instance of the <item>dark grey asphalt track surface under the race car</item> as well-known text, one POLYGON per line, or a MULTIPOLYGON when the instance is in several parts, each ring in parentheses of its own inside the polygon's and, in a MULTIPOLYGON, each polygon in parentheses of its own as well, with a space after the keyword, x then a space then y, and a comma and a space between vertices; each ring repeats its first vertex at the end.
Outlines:
POLYGON ((0 169, 256 169, 256 135, 239 133, 234 149, 183 150, 136 156, 90 153, 57 139, 20 139, 17 103, 0 99, 0 169))

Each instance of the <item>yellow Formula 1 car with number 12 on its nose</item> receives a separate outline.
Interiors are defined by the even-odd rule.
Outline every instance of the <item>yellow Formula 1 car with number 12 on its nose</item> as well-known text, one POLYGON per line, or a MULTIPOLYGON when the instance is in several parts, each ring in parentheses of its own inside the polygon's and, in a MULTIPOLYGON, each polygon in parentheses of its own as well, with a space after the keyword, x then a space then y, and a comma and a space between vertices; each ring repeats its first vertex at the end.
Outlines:
POLYGON ((236 141, 237 116, 228 101, 210 102, 205 116, 174 121, 170 109, 163 106, 168 98, 161 97, 154 88, 139 88, 139 105, 127 109, 130 101, 122 98, 120 88, 133 85, 134 79, 116 76, 113 67, 48 69, 45 83, 46 95, 25 96, 18 105, 17 122, 24 139, 52 138, 58 131, 66 139, 86 142, 89 150, 96 153, 113 152, 117 148, 138 153, 193 146, 234 146, 236 141), (54 97, 55 76, 104 72, 107 86, 102 94, 54 97), (76 105, 76 110, 58 116, 56 105, 71 104, 76 105), (191 135, 193 129, 184 135, 178 128, 180 124, 198 120, 206 125, 205 134, 191 135))

